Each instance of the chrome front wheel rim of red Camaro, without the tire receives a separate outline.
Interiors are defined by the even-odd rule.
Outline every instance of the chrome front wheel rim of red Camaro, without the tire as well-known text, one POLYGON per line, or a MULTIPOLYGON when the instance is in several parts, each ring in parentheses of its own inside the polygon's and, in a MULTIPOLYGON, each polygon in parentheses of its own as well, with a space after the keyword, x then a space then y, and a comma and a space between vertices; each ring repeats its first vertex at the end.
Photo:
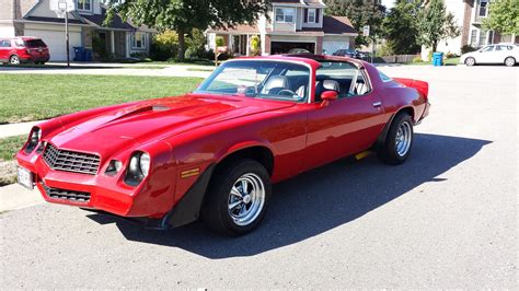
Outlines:
POLYGON ((228 211, 237 225, 254 222, 265 205, 265 186, 253 173, 246 173, 233 184, 228 199, 228 211))

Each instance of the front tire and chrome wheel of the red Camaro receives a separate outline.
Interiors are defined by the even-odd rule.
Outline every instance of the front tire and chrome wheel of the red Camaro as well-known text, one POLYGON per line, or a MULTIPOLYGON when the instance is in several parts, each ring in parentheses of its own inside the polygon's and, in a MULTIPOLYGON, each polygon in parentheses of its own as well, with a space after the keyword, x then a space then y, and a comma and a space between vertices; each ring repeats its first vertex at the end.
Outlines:
POLYGON ((265 217, 272 194, 266 168, 251 159, 219 166, 201 209, 205 224, 221 234, 238 236, 254 230, 265 217))

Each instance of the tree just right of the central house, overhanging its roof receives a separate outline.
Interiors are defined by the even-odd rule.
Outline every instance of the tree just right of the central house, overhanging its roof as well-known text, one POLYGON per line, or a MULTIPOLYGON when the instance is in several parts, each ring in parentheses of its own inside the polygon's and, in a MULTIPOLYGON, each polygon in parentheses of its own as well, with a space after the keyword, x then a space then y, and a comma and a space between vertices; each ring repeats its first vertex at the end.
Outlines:
POLYGON ((370 26, 369 38, 359 34, 355 39, 357 47, 368 45, 377 35, 382 34, 382 20, 385 8, 372 0, 326 0, 326 13, 335 16, 347 16, 355 30, 362 31, 365 25, 370 26))

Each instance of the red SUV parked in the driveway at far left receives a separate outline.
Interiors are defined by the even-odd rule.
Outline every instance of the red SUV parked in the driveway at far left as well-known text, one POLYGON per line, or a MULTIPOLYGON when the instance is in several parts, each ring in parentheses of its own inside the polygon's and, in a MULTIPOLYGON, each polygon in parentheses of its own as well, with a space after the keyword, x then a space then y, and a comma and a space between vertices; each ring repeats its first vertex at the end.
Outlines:
POLYGON ((49 58, 47 45, 41 38, 32 36, 0 38, 0 62, 2 63, 34 62, 44 65, 49 58))

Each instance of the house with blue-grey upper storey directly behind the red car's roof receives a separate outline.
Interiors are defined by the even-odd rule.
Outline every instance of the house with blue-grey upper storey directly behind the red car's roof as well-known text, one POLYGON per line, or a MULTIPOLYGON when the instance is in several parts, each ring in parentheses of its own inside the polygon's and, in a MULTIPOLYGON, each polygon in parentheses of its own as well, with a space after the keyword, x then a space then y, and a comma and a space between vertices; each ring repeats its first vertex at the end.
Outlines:
POLYGON ((273 0, 268 18, 262 15, 256 25, 237 25, 221 30, 209 28, 208 48, 216 48, 216 37, 223 37, 231 54, 252 54, 251 39, 261 39, 262 55, 285 54, 303 48, 313 54, 333 54, 354 48, 358 35, 350 21, 325 15, 321 0, 273 0))

